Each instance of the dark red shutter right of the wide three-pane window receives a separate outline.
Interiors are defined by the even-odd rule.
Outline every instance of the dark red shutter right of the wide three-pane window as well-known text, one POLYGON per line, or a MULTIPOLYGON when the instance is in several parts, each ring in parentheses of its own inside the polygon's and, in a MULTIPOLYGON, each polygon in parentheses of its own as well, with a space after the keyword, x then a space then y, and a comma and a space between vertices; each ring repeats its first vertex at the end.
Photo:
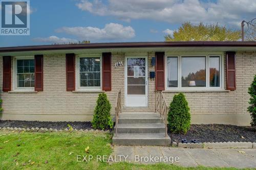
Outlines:
POLYGON ((236 90, 236 56, 235 52, 226 53, 227 90, 236 90))

